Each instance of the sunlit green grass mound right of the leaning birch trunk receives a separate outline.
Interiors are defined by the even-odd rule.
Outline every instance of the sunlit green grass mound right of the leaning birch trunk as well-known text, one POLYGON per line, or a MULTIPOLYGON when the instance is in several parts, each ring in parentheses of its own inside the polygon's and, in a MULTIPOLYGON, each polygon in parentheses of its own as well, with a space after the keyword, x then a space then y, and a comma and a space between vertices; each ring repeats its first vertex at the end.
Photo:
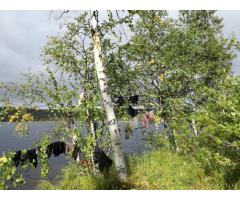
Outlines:
POLYGON ((134 189, 192 190, 221 189, 221 184, 206 176, 197 162, 167 150, 128 158, 129 181, 134 189))

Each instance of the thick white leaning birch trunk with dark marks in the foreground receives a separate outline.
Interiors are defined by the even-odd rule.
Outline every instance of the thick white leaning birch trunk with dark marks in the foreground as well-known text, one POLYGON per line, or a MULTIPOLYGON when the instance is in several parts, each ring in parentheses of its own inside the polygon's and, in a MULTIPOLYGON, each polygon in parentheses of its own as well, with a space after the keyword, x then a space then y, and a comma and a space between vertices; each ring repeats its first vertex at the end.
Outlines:
POLYGON ((113 110, 113 103, 110 95, 108 94, 107 79, 104 72, 104 66, 102 63, 101 41, 100 41, 99 33, 96 30, 96 24, 97 24, 97 21, 95 19, 95 16, 93 15, 93 19, 91 21, 91 34, 92 34, 92 41, 93 41, 93 47, 94 47, 93 50, 94 50, 95 68, 97 72, 97 77, 98 77, 98 82, 100 86, 101 96, 103 99, 104 108, 107 115, 116 171, 119 179, 121 181, 126 181, 127 173, 126 173, 125 161, 124 161, 121 142, 120 142, 120 133, 119 133, 115 113, 113 110))

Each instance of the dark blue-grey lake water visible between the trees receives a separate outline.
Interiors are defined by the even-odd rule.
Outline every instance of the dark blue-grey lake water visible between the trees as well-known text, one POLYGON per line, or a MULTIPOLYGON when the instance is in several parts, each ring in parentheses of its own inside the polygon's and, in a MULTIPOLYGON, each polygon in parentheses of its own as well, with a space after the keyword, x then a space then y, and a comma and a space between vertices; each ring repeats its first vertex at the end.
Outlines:
MULTIPOLYGON (((146 132, 151 132, 155 126, 150 124, 149 128, 142 129, 141 127, 133 131, 133 135, 129 136, 129 139, 125 138, 124 128, 126 123, 119 122, 119 128, 121 133, 121 143, 123 152, 125 154, 141 153, 146 151, 146 132)), ((140 123, 139 123, 139 126, 140 123)), ((43 136, 44 132, 50 131, 54 128, 54 122, 33 122, 30 125, 30 134, 27 136, 19 136, 14 131, 15 124, 1 123, 0 125, 0 155, 3 152, 18 151, 21 149, 34 148, 34 144, 38 142, 43 136)), ((57 183, 60 179, 61 169, 68 164, 68 159, 65 155, 59 157, 51 156, 49 159, 49 174, 47 179, 52 183, 57 183)), ((38 189, 40 176, 40 166, 37 168, 31 168, 24 171, 24 177, 26 183, 17 189, 38 189)))

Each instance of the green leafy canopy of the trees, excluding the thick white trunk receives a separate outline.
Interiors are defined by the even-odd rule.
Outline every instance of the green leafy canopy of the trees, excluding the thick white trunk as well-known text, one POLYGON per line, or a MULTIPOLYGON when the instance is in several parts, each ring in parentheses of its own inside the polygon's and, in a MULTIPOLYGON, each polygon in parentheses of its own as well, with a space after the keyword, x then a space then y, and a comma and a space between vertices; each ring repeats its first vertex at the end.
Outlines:
MULTIPOLYGON (((62 140, 76 136, 88 148, 87 158, 96 144, 102 145, 102 137, 109 138, 103 126, 92 129, 95 122, 104 122, 106 107, 95 69, 91 19, 90 11, 80 12, 59 36, 49 37, 42 52, 44 72, 25 73, 24 83, 1 84, 0 113, 27 133, 32 118, 26 108, 46 105, 59 122, 55 133, 62 140), (9 114, 14 98, 22 105, 9 114), (69 126, 71 119, 86 123, 94 134, 80 136, 79 127, 69 126)), ((99 11, 96 20, 107 93, 117 118, 127 116, 129 104, 118 105, 117 99, 138 95, 142 112, 152 110, 154 123, 166 128, 166 134, 152 134, 152 148, 191 155, 206 173, 223 172, 229 188, 239 184, 240 79, 231 73, 239 46, 234 37, 224 36, 216 12, 179 11, 173 19, 167 11, 99 11)), ((0 179, 0 186, 11 178, 10 173, 0 179)))

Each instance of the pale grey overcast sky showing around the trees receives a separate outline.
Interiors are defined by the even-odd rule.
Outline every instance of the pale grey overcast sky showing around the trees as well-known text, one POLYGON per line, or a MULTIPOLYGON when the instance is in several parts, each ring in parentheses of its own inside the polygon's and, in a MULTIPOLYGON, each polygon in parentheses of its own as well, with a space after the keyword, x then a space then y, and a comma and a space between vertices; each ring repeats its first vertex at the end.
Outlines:
MULTIPOLYGON (((234 33, 240 40, 240 11, 218 11, 224 19, 224 33, 234 33)), ((47 36, 59 32, 60 21, 50 11, 0 11, 0 80, 19 80, 28 68, 44 69, 40 58, 47 36)), ((56 15, 56 13, 55 13, 56 15)), ((176 16, 176 11, 170 11, 176 16)), ((240 74, 240 56, 233 71, 240 74)))

